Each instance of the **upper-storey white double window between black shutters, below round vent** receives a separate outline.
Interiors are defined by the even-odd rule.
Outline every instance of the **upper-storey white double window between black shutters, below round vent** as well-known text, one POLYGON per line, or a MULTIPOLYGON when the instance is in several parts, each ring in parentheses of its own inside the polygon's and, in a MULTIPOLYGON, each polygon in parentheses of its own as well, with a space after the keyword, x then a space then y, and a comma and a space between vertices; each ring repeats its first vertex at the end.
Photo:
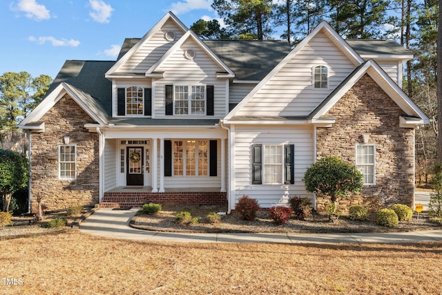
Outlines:
POLYGON ((205 115, 205 85, 175 85, 175 115, 205 115))

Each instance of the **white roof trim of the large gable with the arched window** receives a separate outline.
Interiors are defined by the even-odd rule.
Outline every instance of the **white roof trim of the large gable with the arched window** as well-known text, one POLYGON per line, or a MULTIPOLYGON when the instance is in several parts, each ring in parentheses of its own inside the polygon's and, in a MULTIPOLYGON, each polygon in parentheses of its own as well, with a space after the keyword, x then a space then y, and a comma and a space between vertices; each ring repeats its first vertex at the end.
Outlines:
POLYGON ((267 84, 270 79, 278 74, 279 71, 284 68, 287 63, 289 63, 289 61, 294 59, 294 57, 300 52, 300 50, 302 50, 302 48, 309 44, 311 39, 318 35, 319 32, 324 32, 325 35, 327 35, 327 37, 329 37, 329 39, 334 44, 336 44, 336 46, 348 57, 350 61, 352 61, 355 66, 363 64, 364 59, 360 55, 358 55, 358 53, 356 53, 356 51, 352 47, 350 47, 349 44, 347 44, 347 42, 345 42, 345 40, 340 37, 340 35, 338 35, 338 33, 327 23, 327 21, 322 21, 318 26, 316 26, 316 28, 314 28, 314 30, 311 31, 311 33, 307 37, 305 37, 300 42, 300 44, 298 44, 298 46, 296 46, 296 48, 294 48, 294 50, 291 50, 291 52, 284 59, 282 59, 282 61, 280 61, 280 63, 275 68, 273 68, 273 70, 271 70, 271 72, 264 79, 262 79, 260 83, 255 88, 253 88, 253 90, 248 95, 246 95, 246 97, 244 97, 244 99, 242 99, 242 101, 235 108, 233 108, 233 110, 229 114, 227 114, 225 119, 229 120, 234 115, 236 115, 236 113, 240 111, 242 106, 247 104, 247 102, 249 102, 249 100, 252 99, 252 97, 256 95, 256 93, 258 93, 258 91, 260 91, 260 89, 265 86, 265 84, 267 84))

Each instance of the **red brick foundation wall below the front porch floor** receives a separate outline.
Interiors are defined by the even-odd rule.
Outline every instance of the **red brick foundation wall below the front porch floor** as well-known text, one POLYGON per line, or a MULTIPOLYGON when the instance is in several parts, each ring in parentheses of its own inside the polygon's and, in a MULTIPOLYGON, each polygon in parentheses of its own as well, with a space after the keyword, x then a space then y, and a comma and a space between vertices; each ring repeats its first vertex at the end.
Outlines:
POLYGON ((173 191, 166 193, 104 193, 102 207, 142 207, 147 203, 227 205, 227 193, 220 191, 173 191))

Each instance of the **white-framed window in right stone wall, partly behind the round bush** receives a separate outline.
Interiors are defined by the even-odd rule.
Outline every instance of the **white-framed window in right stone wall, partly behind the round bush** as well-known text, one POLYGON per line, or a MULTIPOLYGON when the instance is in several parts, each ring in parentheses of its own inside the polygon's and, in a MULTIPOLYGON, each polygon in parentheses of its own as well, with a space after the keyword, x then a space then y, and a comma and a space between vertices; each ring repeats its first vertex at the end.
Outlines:
POLYGON ((364 176, 364 184, 376 184, 375 144, 356 144, 356 168, 364 176))

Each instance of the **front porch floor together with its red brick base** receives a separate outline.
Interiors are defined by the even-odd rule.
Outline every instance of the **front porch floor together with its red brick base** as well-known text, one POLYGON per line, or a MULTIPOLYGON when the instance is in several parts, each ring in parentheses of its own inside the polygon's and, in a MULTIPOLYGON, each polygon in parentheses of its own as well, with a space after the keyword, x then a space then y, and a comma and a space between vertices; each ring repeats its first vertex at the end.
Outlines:
POLYGON ((147 203, 157 204, 198 204, 227 205, 227 193, 220 187, 201 188, 169 188, 159 193, 151 186, 146 187, 115 187, 104 193, 102 207, 142 207, 147 203))

